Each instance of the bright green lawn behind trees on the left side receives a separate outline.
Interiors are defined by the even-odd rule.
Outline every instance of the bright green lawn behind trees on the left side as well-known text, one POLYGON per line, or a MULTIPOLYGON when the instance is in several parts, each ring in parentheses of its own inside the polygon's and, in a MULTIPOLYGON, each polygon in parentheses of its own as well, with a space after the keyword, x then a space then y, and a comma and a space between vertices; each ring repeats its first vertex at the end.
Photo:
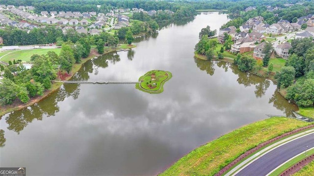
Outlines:
POLYGON ((9 53, 8 55, 2 57, 0 60, 4 62, 9 62, 9 60, 13 61, 15 60, 22 60, 28 62, 30 60, 30 56, 33 54, 47 54, 48 51, 54 51, 55 53, 60 53, 60 48, 57 49, 33 49, 33 50, 18 50, 12 53, 9 53))

